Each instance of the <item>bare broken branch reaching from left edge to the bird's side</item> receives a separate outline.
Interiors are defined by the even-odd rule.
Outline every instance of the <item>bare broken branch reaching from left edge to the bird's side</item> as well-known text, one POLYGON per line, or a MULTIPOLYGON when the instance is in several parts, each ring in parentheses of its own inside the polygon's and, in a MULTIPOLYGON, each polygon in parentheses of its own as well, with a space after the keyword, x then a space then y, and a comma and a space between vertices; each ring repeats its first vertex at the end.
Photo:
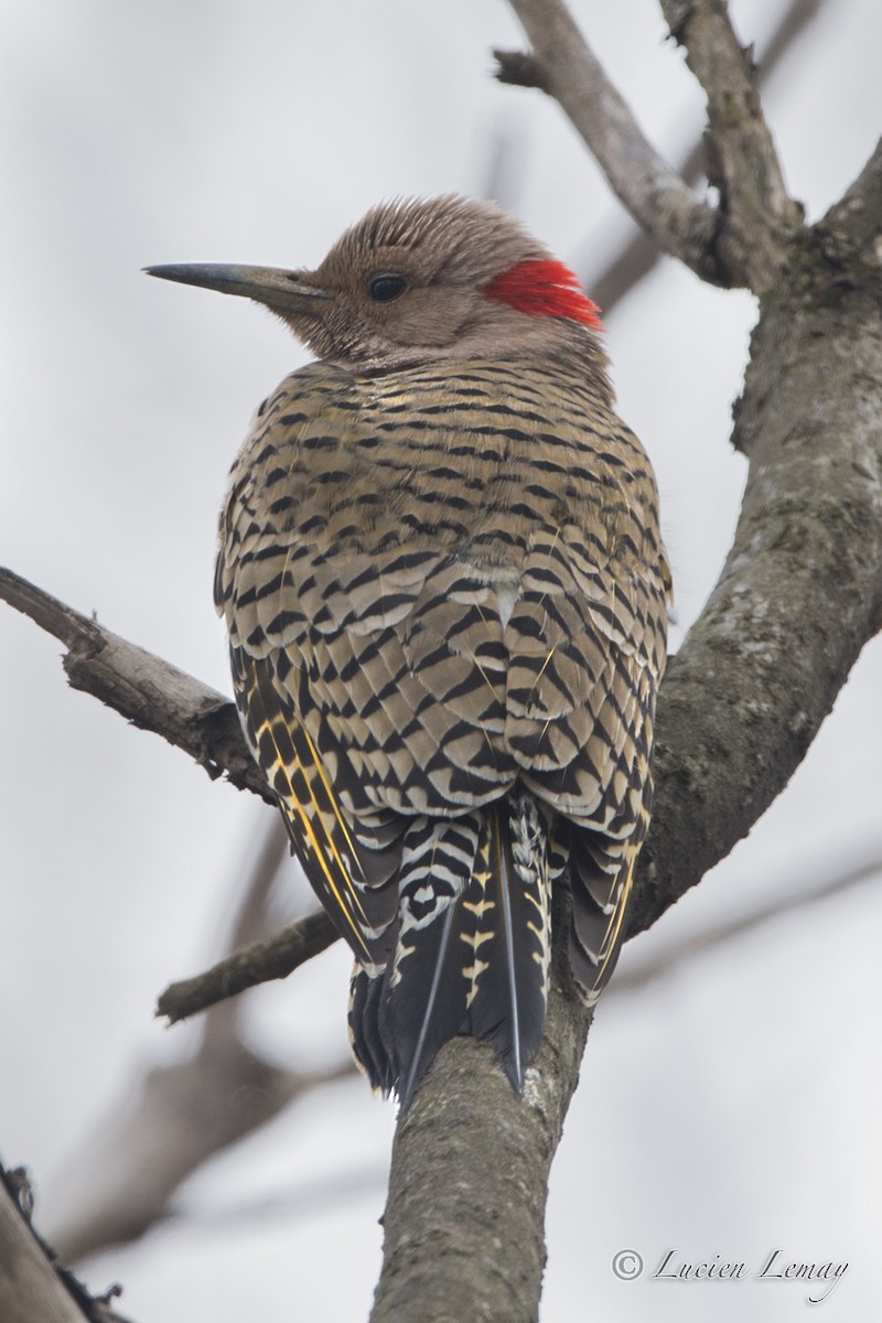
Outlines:
POLYGON ((245 742, 235 705, 217 689, 127 643, 3 566, 0 599, 67 647, 63 665, 74 689, 100 699, 141 730, 163 736, 189 753, 209 777, 226 773, 237 789, 274 802, 245 742))

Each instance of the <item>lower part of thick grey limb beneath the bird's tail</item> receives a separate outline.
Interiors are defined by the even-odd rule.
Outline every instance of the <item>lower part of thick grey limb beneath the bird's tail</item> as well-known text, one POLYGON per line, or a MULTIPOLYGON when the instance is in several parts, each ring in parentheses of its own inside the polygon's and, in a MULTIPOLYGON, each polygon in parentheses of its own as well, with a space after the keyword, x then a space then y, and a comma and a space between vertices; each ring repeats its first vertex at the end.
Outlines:
POLYGON ((591 1020, 570 975, 566 894, 553 906, 549 1015, 524 1095, 488 1044, 454 1039, 398 1122, 370 1323, 537 1318, 549 1170, 591 1020))

